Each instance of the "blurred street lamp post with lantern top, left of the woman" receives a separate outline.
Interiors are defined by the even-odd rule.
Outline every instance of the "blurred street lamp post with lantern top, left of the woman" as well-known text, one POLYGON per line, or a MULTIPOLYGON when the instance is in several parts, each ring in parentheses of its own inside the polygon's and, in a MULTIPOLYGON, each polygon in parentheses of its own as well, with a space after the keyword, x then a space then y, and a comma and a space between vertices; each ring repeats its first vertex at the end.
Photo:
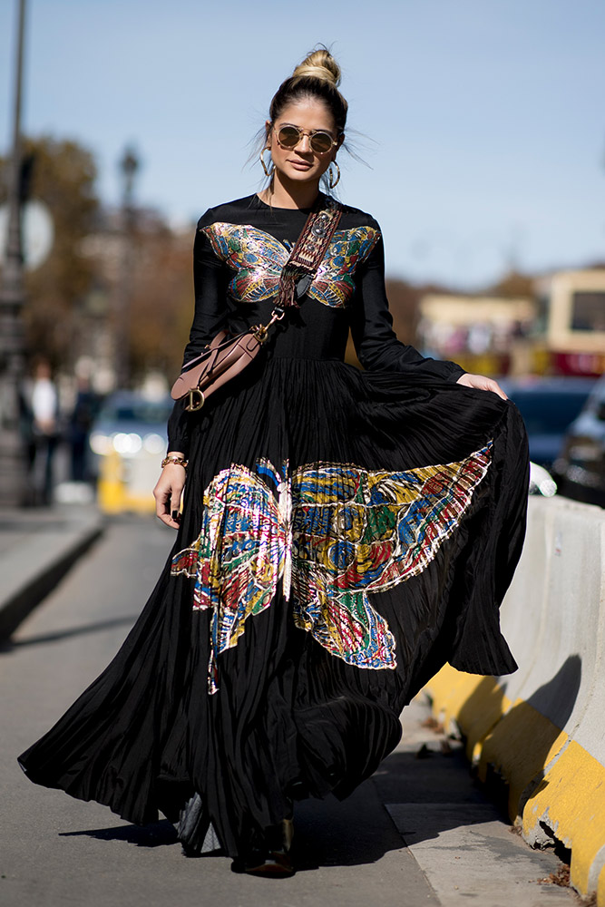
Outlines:
POLYGON ((119 387, 128 387, 131 381, 131 296, 134 232, 134 176, 139 160, 132 149, 126 149, 120 169, 123 176, 122 194, 122 260, 118 277, 118 305, 116 330, 116 373, 119 387))

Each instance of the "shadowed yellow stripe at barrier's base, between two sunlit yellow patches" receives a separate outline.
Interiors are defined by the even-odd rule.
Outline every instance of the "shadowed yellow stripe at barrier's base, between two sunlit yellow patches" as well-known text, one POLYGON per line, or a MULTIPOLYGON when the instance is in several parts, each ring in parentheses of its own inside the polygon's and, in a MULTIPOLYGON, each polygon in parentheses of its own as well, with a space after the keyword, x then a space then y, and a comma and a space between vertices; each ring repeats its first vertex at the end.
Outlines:
POLYGON ((512 822, 519 813, 523 790, 561 751, 568 739, 551 720, 517 699, 483 740, 478 775, 486 781, 490 770, 509 785, 508 810, 512 822))

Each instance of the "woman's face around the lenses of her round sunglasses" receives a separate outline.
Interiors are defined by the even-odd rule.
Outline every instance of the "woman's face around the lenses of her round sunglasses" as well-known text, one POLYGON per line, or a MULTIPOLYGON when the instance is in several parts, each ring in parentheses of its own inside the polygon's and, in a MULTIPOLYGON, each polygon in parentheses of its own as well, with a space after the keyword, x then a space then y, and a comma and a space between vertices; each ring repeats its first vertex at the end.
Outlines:
MULTIPOLYGON (((289 104, 279 114, 277 121, 268 135, 267 147, 276 171, 280 177, 293 182, 318 182, 327 171, 331 162, 336 160, 337 151, 342 144, 338 139, 329 151, 317 153, 311 148, 309 136, 304 135, 296 148, 284 148, 279 144, 278 131, 282 126, 298 126, 304 132, 323 130, 337 140, 337 130, 332 114, 325 104, 316 100, 301 101, 289 104)), ((267 123, 268 128, 270 123, 267 123)))

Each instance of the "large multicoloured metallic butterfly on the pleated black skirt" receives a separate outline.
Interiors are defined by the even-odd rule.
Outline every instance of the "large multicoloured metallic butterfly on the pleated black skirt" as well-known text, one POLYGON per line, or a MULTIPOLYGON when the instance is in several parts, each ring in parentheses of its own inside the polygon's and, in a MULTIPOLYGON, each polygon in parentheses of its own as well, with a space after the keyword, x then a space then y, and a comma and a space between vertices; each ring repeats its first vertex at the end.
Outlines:
POLYGON ((172 559, 211 610, 209 691, 221 652, 281 580, 299 629, 356 668, 395 668, 395 638, 369 595, 424 571, 469 507, 492 443, 457 463, 388 473, 343 463, 288 472, 232 464, 204 493, 199 537, 172 559))

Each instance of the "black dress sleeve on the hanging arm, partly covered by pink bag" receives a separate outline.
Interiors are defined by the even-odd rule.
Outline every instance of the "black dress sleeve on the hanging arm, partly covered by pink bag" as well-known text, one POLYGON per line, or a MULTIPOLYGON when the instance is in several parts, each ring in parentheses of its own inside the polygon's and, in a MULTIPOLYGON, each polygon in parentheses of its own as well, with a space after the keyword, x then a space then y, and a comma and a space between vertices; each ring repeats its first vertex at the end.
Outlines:
MULTIPOLYGON (((225 327, 227 319, 227 294, 225 269, 210 246, 203 228, 214 220, 212 209, 200 218, 193 244, 193 286, 195 311, 189 343, 185 346, 183 366, 195 356, 200 356, 204 346, 225 327)), ((177 400, 168 420, 168 449, 189 455, 189 425, 185 400, 177 400)))

